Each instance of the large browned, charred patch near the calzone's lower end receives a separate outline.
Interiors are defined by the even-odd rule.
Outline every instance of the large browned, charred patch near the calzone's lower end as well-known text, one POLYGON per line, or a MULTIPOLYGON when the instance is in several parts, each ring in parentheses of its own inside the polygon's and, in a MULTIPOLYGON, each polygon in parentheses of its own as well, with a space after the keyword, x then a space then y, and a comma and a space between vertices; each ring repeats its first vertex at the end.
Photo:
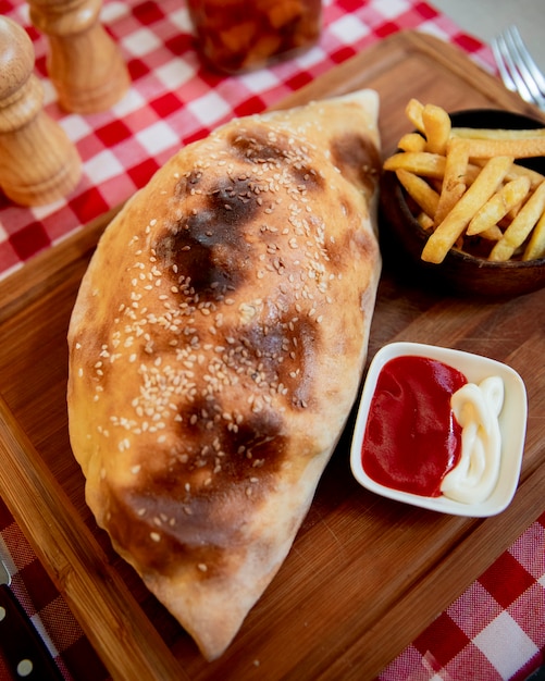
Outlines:
POLYGON ((258 502, 274 485, 274 472, 285 459, 288 442, 277 413, 251 413, 233 432, 222 419, 208 429, 205 410, 214 412, 199 403, 193 412, 198 418, 184 429, 184 454, 156 453, 168 463, 152 472, 143 469, 129 488, 111 490, 103 481, 112 538, 163 574, 181 561, 206 565, 201 579, 221 573, 222 552, 245 524, 241 509, 249 497, 258 502), (221 519, 215 517, 218 495, 230 499, 231 510, 221 519))

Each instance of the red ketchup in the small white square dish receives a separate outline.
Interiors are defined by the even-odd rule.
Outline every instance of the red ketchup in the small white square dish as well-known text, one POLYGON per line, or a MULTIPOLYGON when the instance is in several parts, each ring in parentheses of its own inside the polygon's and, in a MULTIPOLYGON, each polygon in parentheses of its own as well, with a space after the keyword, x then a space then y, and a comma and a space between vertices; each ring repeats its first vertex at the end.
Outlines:
POLYGON ((363 470, 387 487, 441 496, 461 455, 461 426, 450 397, 467 383, 458 370, 426 357, 396 357, 383 367, 361 450, 363 470))

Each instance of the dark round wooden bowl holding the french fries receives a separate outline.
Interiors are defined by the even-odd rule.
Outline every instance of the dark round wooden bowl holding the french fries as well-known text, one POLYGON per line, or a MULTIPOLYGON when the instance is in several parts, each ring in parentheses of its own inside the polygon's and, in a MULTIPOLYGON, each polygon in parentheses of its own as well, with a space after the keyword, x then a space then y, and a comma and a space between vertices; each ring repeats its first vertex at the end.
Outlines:
MULTIPOLYGON (((456 127, 530 129, 545 125, 536 119, 495 109, 460 111, 450 117, 456 127)), ((524 164, 545 175, 545 157, 529 159, 524 164)), ((434 264, 421 259, 426 240, 428 234, 409 209, 395 173, 385 172, 381 181, 381 242, 385 260, 391 258, 395 267, 402 267, 410 275, 418 274, 423 284, 463 295, 507 298, 545 286, 545 258, 491 262, 451 249, 441 264, 434 264)))

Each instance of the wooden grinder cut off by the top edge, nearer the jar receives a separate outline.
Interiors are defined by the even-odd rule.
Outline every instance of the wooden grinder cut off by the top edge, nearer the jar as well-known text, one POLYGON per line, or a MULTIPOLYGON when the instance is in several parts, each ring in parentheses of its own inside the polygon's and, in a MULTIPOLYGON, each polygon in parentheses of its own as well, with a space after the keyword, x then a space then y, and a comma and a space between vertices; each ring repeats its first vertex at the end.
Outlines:
POLYGON ((49 38, 47 69, 65 111, 106 111, 125 95, 131 78, 99 23, 101 0, 29 0, 28 5, 34 26, 49 38))

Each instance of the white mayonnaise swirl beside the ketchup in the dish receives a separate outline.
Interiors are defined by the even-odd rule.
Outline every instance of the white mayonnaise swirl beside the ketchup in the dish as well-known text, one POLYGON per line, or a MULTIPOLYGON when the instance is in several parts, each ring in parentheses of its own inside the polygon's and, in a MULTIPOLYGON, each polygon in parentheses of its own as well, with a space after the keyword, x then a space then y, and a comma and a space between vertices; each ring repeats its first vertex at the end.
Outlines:
POLYGON ((443 479, 441 491, 456 502, 480 504, 492 494, 499 476, 504 382, 490 376, 479 385, 467 383, 453 395, 450 406, 462 428, 461 457, 443 479))

